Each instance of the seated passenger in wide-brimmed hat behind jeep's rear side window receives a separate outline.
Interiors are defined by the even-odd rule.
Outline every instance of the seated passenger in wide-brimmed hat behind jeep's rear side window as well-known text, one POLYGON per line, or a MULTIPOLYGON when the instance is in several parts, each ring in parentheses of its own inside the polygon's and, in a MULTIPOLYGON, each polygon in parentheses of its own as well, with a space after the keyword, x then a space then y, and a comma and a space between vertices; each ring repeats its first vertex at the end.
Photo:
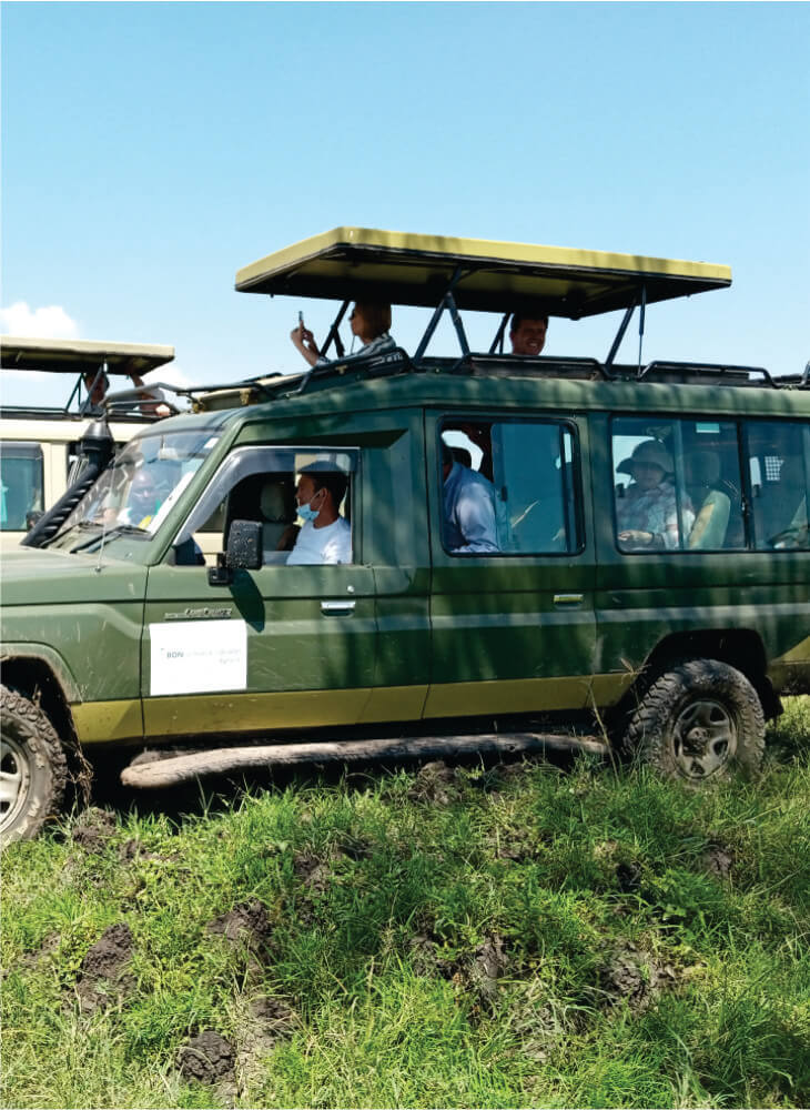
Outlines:
MULTIPOLYGON (((616 502, 619 544, 631 551, 679 547, 672 456, 664 444, 658 440, 645 440, 617 468, 632 478, 624 497, 616 502)), ((680 505, 685 534, 688 535, 695 523, 695 513, 686 493, 680 505)))

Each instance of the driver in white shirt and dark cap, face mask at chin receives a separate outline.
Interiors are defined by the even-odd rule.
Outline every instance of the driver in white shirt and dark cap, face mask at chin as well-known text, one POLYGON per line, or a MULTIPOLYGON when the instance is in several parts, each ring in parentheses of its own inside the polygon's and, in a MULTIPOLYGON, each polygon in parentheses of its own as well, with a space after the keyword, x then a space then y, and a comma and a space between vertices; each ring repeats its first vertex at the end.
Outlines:
POLYGON ((348 480, 330 466, 325 462, 312 463, 301 472, 295 500, 304 526, 287 556, 288 566, 352 562, 351 528, 338 513, 348 480))

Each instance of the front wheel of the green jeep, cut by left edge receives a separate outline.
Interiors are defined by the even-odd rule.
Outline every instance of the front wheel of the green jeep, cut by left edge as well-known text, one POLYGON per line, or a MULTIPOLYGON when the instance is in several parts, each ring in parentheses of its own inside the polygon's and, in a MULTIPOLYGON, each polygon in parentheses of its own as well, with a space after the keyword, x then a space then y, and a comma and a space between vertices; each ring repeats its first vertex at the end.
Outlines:
POLYGON ((0 686, 0 847, 32 840, 59 815, 68 761, 53 725, 33 702, 0 686))

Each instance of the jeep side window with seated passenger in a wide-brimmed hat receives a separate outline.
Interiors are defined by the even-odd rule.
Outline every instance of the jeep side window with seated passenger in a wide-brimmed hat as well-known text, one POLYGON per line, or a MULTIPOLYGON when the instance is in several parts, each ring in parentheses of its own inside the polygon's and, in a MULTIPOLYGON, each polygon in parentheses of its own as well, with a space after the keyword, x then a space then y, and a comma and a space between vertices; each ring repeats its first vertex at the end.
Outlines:
POLYGON ((617 417, 611 438, 620 551, 746 546, 733 421, 617 417))

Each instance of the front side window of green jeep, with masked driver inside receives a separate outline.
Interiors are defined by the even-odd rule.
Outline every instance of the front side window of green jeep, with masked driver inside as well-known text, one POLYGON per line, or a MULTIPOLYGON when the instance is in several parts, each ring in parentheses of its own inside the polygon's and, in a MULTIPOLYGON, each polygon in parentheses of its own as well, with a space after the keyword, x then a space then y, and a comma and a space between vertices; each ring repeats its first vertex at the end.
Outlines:
MULTIPOLYGON (((262 526, 263 565, 352 563, 352 505, 357 452, 244 447, 234 451, 181 529, 206 556, 219 529, 227 546, 234 521, 262 526)), ((210 559, 207 559, 210 561, 210 559)))

